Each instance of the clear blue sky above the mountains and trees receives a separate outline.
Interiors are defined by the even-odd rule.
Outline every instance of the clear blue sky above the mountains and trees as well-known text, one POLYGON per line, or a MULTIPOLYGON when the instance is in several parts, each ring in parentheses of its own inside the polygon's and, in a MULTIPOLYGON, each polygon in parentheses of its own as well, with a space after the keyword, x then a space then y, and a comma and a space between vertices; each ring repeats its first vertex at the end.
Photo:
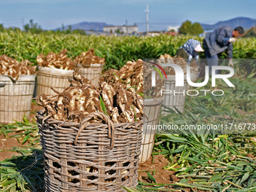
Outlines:
POLYGON ((185 20, 214 24, 234 17, 256 19, 255 0, 1 0, 0 23, 22 27, 32 19, 42 29, 56 29, 62 23, 104 22, 113 25, 137 23, 146 29, 148 4, 149 29, 166 30, 185 20))

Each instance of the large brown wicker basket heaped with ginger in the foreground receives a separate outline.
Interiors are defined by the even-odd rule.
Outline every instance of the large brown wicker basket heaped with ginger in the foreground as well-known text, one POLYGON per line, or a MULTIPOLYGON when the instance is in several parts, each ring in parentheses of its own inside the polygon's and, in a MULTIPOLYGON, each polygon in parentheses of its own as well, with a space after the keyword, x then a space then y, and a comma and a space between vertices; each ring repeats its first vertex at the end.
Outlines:
POLYGON ((62 93, 38 96, 44 106, 37 122, 45 191, 136 187, 143 117, 139 99, 123 84, 114 89, 102 82, 96 89, 77 73, 62 93))

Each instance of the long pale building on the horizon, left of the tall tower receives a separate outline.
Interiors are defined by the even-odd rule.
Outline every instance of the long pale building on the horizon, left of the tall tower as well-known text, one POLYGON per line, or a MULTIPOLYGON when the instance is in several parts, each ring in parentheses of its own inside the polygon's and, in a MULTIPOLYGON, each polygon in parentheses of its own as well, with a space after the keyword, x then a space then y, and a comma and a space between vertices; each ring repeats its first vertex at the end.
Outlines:
POLYGON ((138 26, 104 26, 103 32, 136 35, 138 34, 138 26))

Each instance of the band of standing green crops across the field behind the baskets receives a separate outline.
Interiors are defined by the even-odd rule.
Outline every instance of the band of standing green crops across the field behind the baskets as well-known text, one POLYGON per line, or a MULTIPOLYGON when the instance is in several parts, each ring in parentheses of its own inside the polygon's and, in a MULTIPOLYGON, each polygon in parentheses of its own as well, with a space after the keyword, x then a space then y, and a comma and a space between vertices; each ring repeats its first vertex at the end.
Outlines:
MULTIPOLYGON (((105 69, 120 69, 126 61, 132 59, 158 58, 161 54, 175 55, 176 50, 189 38, 203 41, 203 38, 191 36, 160 35, 155 37, 136 36, 88 36, 56 35, 53 33, 31 34, 29 32, 0 32, 0 54, 12 56, 17 60, 29 59, 36 64, 39 53, 50 51, 59 53, 67 48, 69 56, 78 56, 83 51, 95 48, 96 55, 105 57, 105 69)), ((256 39, 242 38, 233 46, 236 59, 256 58, 256 39)), ((204 58, 204 53, 201 53, 204 58)))

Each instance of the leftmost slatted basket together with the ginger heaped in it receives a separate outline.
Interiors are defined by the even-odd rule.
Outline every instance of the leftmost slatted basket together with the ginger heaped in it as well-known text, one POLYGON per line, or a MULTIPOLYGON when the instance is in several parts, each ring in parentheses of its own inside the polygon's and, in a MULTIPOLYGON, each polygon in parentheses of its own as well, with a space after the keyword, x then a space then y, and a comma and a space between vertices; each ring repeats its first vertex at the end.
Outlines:
POLYGON ((0 123, 29 117, 34 88, 35 66, 29 60, 0 56, 0 123))

